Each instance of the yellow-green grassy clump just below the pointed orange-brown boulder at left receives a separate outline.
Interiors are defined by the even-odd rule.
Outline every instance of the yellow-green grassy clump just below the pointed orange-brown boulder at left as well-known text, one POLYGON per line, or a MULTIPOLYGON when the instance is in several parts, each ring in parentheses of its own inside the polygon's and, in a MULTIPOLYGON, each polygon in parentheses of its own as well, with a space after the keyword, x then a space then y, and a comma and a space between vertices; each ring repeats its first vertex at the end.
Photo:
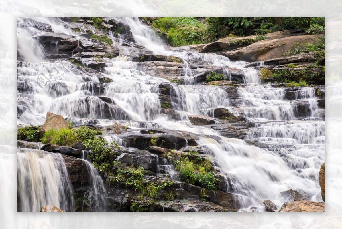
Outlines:
POLYGON ((43 138, 41 138, 40 141, 43 144, 51 143, 53 145, 71 147, 77 142, 77 135, 74 129, 51 129, 45 131, 43 138))

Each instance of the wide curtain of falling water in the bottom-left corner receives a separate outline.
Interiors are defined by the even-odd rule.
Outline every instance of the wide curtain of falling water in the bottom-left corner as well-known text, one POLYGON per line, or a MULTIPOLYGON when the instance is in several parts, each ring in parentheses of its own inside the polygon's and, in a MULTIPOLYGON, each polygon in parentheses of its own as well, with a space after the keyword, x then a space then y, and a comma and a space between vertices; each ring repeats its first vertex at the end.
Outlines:
POLYGON ((54 205, 75 211, 74 190, 61 154, 18 148, 18 211, 54 205))

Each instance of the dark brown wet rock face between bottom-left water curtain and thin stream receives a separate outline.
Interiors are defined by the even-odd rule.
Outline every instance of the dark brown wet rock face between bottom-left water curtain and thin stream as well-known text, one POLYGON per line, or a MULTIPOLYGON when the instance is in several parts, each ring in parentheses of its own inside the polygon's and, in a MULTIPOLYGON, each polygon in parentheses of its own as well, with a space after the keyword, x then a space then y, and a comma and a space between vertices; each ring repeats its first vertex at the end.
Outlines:
POLYGON ((62 154, 69 179, 74 189, 86 190, 89 186, 89 171, 86 162, 82 159, 62 154))

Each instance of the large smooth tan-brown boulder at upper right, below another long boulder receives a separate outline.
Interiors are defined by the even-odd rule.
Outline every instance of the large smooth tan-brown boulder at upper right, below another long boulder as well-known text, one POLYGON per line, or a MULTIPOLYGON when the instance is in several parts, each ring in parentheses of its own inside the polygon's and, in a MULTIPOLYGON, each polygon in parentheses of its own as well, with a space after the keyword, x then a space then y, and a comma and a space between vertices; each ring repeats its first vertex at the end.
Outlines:
POLYGON ((255 42, 249 46, 220 53, 231 59, 240 59, 248 62, 266 61, 279 58, 293 48, 297 43, 315 44, 323 35, 290 36, 280 39, 265 39, 255 42))

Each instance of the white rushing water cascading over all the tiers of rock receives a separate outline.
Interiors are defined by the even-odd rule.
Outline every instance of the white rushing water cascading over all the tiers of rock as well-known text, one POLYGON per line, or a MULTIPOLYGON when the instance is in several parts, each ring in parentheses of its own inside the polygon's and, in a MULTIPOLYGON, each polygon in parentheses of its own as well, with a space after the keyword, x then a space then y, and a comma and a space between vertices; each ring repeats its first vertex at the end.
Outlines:
MULTIPOLYGON (((58 27, 59 22, 55 19, 40 20, 52 24, 52 28, 58 32, 75 35, 74 31, 68 27, 58 27)), ((325 127, 324 121, 316 117, 318 104, 312 87, 303 87, 295 92, 295 100, 287 100, 285 88, 260 84, 258 70, 244 68, 246 65, 244 61, 233 62, 227 57, 210 53, 171 51, 151 28, 143 25, 138 19, 116 18, 116 20, 130 25, 133 37, 139 45, 156 54, 183 58, 182 72, 184 74, 182 77, 186 85, 177 85, 166 79, 148 75, 138 70, 137 64, 129 57, 106 59, 107 66, 102 74, 113 82, 105 83, 103 93, 100 94, 111 98, 116 104, 108 108, 95 93, 94 88, 99 82, 98 77, 77 70, 76 66, 68 61, 39 61, 44 57, 41 52, 35 51, 38 44, 32 43, 34 42, 32 39, 22 37, 22 35, 33 36, 39 32, 21 28, 24 32, 18 37, 18 50, 24 61, 18 65, 18 85, 22 85, 26 90, 18 94, 18 109, 22 111, 18 123, 42 124, 46 112, 51 111, 65 118, 71 118, 78 125, 96 120, 100 125, 112 125, 118 122, 133 130, 161 128, 187 131, 197 134, 199 146, 206 146, 203 147, 205 153, 215 158, 222 172, 234 178, 233 183, 229 184, 227 181, 226 186, 228 192, 238 195, 240 210, 249 211, 253 206, 262 211, 264 210, 262 202, 266 199, 281 206, 282 202, 278 194, 288 189, 297 189, 304 192, 310 200, 321 201, 318 171, 324 162, 325 127), (250 128, 246 140, 267 144, 267 147, 259 148, 240 139, 222 137, 212 129, 189 123, 188 115, 208 115, 213 108, 217 107, 224 107, 234 112, 232 101, 223 88, 196 84, 192 69, 189 68, 189 62, 195 60, 222 68, 228 80, 231 79, 229 69, 238 69, 243 72, 243 81, 248 85, 238 87, 241 102, 239 108, 247 121, 254 123, 254 128, 250 128), (55 86, 46 92, 35 81, 40 73, 49 75, 51 64, 55 68, 54 71, 63 73, 63 76, 52 76, 52 81, 56 81, 55 86), (181 114, 182 121, 172 121, 162 116, 158 96, 160 83, 170 85, 172 107, 181 114), (294 101, 307 104, 308 115, 306 117, 299 118, 296 115, 298 110, 294 101)), ((111 36, 111 38, 115 44, 122 42, 120 37, 111 36)), ((234 113, 237 115, 237 112, 234 113)), ((115 134, 106 135, 105 138, 108 141, 123 144, 122 139, 115 134)), ((61 161, 60 156, 53 155, 43 154, 39 150, 19 152, 18 177, 20 179, 18 182, 22 182, 19 195, 23 200, 21 210, 39 210, 50 197, 56 199, 54 205, 64 210, 73 210, 73 206, 65 203, 66 199, 63 195, 55 194, 58 190, 65 190, 65 195, 70 192, 65 188, 66 186, 63 186, 66 184, 62 181, 62 183, 56 184, 55 182, 53 186, 51 185, 53 189, 47 196, 39 191, 33 192, 39 190, 39 185, 49 186, 49 183, 44 182, 54 182, 50 180, 53 179, 52 177, 39 177, 43 175, 38 174, 39 171, 35 169, 55 169, 54 172, 50 171, 49 176, 59 174, 57 178, 63 178, 64 182, 67 182, 67 174, 62 173, 64 170, 57 169, 58 172, 56 170, 58 166, 61 167, 57 163, 61 161), (36 158, 41 164, 29 158, 36 158), (32 168, 33 166, 37 168, 30 170, 31 172, 25 175, 28 178, 24 178, 23 169, 29 163, 36 163, 37 165, 32 164, 32 168), (43 167, 45 164, 49 166, 43 167), (33 180, 38 180, 40 183, 37 183, 38 186, 34 189, 32 188, 32 193, 25 194, 25 182, 30 183, 33 180), (28 200, 32 196, 35 196, 32 202, 35 206, 31 206, 28 200)), ((101 178, 90 162, 86 161, 86 164, 93 178, 93 193, 101 196, 101 192, 105 191, 101 186, 98 189, 101 178)), ((177 178, 173 165, 167 159, 160 161, 159 169, 161 168, 172 178, 177 178)), ((106 205, 104 204, 100 210, 105 211, 106 205)))

